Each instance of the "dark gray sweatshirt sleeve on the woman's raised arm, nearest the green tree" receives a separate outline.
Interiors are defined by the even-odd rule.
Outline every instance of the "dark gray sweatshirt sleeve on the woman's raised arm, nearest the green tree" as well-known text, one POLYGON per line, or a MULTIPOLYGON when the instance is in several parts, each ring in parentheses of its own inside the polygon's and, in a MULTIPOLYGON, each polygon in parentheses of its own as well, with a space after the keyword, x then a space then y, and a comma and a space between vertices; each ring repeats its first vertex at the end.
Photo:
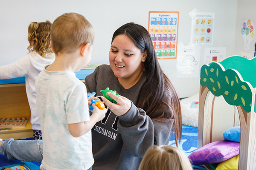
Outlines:
POLYGON ((172 126, 173 119, 168 122, 151 120, 145 111, 132 103, 130 110, 119 116, 118 131, 127 150, 134 156, 143 157, 148 147, 169 144, 172 126))

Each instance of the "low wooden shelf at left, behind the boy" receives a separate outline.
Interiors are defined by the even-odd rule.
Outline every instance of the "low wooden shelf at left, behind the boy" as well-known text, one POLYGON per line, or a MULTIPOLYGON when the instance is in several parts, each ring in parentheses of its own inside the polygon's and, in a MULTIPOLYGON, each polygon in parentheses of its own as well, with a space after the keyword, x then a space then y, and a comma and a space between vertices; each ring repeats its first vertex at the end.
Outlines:
POLYGON ((0 117, 29 117, 25 127, 0 131, 0 138, 6 140, 33 137, 25 83, 0 85, 0 94, 0 117))

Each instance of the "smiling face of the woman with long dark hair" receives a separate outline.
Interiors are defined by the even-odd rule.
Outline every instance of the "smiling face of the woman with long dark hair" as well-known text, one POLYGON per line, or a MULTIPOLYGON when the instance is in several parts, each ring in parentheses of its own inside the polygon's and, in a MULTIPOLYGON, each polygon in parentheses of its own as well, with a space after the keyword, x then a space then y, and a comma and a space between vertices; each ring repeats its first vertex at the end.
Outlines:
POLYGON ((109 51, 109 63, 117 78, 133 79, 143 73, 142 63, 146 52, 141 53, 134 42, 125 34, 117 35, 109 51))

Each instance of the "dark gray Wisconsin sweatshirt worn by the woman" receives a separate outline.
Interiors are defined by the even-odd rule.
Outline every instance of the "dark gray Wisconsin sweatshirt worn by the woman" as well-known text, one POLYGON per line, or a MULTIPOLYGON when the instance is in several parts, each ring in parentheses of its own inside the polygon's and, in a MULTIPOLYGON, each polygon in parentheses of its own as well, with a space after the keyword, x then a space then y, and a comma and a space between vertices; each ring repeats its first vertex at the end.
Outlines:
POLYGON ((106 117, 93 127, 93 170, 137 170, 148 147, 169 144, 173 120, 151 120, 143 109, 136 107, 146 75, 147 72, 129 89, 119 84, 109 65, 100 65, 85 78, 87 92, 102 96, 100 90, 109 87, 132 101, 125 115, 116 116, 108 109, 106 117))

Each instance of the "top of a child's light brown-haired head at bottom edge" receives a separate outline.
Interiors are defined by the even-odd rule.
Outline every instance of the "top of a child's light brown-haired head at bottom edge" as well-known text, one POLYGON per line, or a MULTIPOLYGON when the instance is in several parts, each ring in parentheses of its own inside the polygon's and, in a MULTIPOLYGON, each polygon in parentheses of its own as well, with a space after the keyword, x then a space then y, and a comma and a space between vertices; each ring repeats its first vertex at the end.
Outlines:
POLYGON ((146 151, 139 170, 193 170, 188 157, 178 148, 151 146, 146 151))

